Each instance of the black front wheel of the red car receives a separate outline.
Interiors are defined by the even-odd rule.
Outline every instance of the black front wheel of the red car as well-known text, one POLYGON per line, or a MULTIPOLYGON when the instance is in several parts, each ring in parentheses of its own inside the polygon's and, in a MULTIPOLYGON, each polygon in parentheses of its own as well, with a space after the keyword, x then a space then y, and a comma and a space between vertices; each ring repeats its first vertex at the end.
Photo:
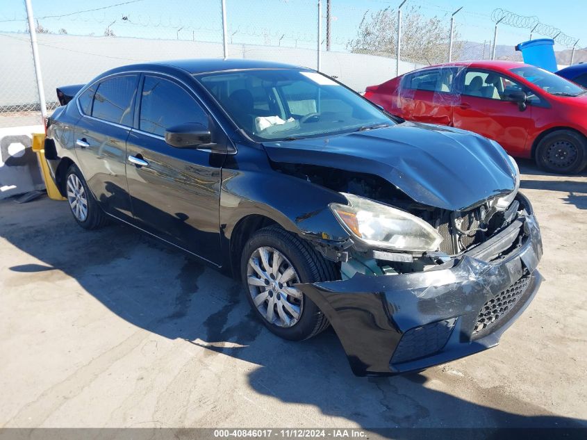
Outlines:
POLYGON ((587 165, 587 139, 572 130, 547 134, 536 147, 536 163, 556 174, 577 174, 587 165))

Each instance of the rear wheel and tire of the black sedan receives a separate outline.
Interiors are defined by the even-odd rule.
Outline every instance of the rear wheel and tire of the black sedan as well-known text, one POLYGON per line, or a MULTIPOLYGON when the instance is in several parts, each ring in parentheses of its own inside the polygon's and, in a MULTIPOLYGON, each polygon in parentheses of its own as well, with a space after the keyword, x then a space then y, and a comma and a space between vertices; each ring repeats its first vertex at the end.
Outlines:
POLYGON ((74 219, 83 229, 98 229, 106 225, 106 213, 94 199, 81 171, 74 164, 65 173, 65 197, 74 219))

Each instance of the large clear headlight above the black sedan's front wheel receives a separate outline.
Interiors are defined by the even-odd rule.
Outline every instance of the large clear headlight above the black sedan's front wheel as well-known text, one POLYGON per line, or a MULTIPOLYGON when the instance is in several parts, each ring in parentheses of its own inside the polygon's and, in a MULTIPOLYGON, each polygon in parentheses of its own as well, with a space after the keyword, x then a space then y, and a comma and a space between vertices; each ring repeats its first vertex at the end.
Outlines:
POLYGON ((389 250, 425 252, 438 249, 443 238, 438 231, 415 215, 342 193, 348 205, 331 203, 340 224, 364 243, 389 250))

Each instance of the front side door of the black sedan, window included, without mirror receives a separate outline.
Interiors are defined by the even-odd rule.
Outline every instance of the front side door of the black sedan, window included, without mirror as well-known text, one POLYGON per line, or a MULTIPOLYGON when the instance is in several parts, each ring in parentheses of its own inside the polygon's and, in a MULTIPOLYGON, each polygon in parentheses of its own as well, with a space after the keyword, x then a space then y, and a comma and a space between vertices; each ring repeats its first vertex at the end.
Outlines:
MULTIPOLYGON (((188 122, 209 126, 211 115, 183 83, 145 74, 127 142, 126 176, 138 227, 220 263, 220 172, 225 154, 176 148, 165 142, 165 129, 188 122), (136 159, 144 165, 131 163, 136 159)), ((212 126, 213 142, 228 140, 212 126)))

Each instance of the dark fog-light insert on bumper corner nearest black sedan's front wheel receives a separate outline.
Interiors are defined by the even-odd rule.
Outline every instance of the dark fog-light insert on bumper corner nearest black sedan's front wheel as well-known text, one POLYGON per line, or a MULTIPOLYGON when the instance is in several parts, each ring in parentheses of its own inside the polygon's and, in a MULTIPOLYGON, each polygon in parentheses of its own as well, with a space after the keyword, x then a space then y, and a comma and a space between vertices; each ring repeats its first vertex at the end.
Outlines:
POLYGON ((412 361, 442 350, 455 323, 456 318, 451 318, 409 329, 399 340, 391 363, 412 361))

